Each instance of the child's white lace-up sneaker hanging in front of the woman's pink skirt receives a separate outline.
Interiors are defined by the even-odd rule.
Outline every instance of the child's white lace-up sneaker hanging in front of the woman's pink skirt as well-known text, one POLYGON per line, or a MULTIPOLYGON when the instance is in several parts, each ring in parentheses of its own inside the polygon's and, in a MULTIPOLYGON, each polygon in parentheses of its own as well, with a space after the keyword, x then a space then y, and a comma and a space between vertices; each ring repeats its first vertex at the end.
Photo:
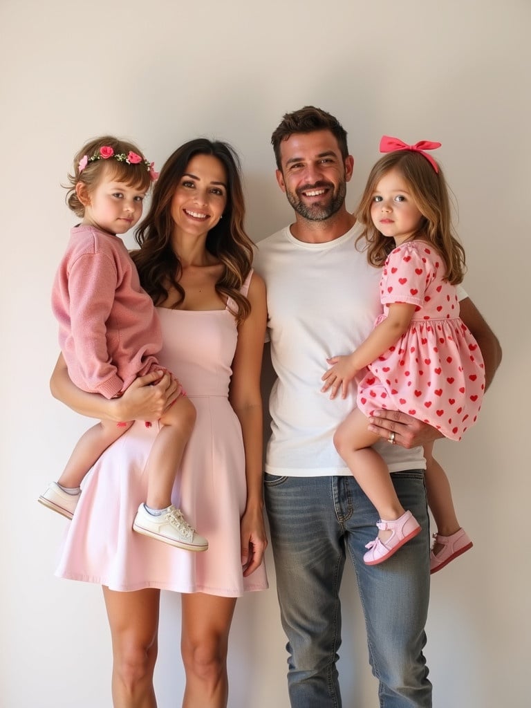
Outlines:
POLYGON ((133 530, 186 551, 206 551, 208 548, 207 539, 195 532, 181 510, 176 509, 173 504, 160 516, 150 514, 144 504, 140 504, 133 522, 133 530))

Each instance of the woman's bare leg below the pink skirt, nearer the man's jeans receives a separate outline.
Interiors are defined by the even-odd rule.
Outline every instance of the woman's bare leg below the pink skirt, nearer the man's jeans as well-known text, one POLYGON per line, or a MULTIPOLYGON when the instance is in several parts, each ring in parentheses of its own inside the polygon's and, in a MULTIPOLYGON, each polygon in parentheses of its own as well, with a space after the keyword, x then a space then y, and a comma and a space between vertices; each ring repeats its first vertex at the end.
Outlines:
POLYGON ((227 649, 235 605, 236 598, 182 595, 183 708, 227 707, 227 649))

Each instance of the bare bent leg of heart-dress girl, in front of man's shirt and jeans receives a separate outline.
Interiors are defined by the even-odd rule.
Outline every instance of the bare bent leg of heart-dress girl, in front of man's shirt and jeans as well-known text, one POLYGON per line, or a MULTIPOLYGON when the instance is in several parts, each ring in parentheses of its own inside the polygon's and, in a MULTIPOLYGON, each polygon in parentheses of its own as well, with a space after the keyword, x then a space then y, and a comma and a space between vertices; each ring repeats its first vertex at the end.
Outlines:
MULTIPOLYGON (((396 496, 389 476, 389 469, 382 457, 370 445, 379 440, 367 430, 367 418, 354 409, 333 437, 339 455, 345 460, 348 469, 370 501, 375 505, 379 518, 396 520, 405 513, 404 507, 396 496)), ((380 531, 378 537, 385 541, 391 531, 380 531)))

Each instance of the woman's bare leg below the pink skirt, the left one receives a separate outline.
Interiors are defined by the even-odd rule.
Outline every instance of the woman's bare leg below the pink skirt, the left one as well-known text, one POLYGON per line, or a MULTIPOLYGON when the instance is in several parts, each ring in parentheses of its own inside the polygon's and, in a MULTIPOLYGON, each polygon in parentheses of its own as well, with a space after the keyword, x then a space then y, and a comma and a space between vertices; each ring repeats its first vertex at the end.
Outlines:
POLYGON ((118 593, 104 587, 103 597, 113 639, 113 706, 156 708, 160 590, 118 593))

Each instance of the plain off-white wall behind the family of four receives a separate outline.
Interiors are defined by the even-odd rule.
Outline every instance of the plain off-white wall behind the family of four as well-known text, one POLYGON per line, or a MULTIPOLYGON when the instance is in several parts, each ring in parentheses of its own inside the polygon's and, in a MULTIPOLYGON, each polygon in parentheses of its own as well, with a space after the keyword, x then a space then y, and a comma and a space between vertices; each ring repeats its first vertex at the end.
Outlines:
MULTIPOLYGON (((528 0, 2 0, 0 200, 3 406, 3 708, 110 706, 101 589, 53 576, 67 524, 36 503, 89 421, 54 401, 50 287, 75 217, 72 157, 89 137, 139 142, 161 166, 187 139, 241 154, 249 234, 291 218, 269 140, 312 103, 348 130, 356 200, 382 134, 439 140, 467 249, 465 287, 504 360, 479 424, 441 442, 474 550, 434 576, 426 657, 435 708, 529 705, 530 39, 528 0), (522 503, 516 503, 518 500, 522 503)), ((287 708, 285 639, 270 590, 242 598, 231 635, 231 708, 287 708)), ((351 569, 343 583, 347 708, 376 708, 351 569)), ((156 690, 183 693, 180 601, 163 593, 156 690)))

